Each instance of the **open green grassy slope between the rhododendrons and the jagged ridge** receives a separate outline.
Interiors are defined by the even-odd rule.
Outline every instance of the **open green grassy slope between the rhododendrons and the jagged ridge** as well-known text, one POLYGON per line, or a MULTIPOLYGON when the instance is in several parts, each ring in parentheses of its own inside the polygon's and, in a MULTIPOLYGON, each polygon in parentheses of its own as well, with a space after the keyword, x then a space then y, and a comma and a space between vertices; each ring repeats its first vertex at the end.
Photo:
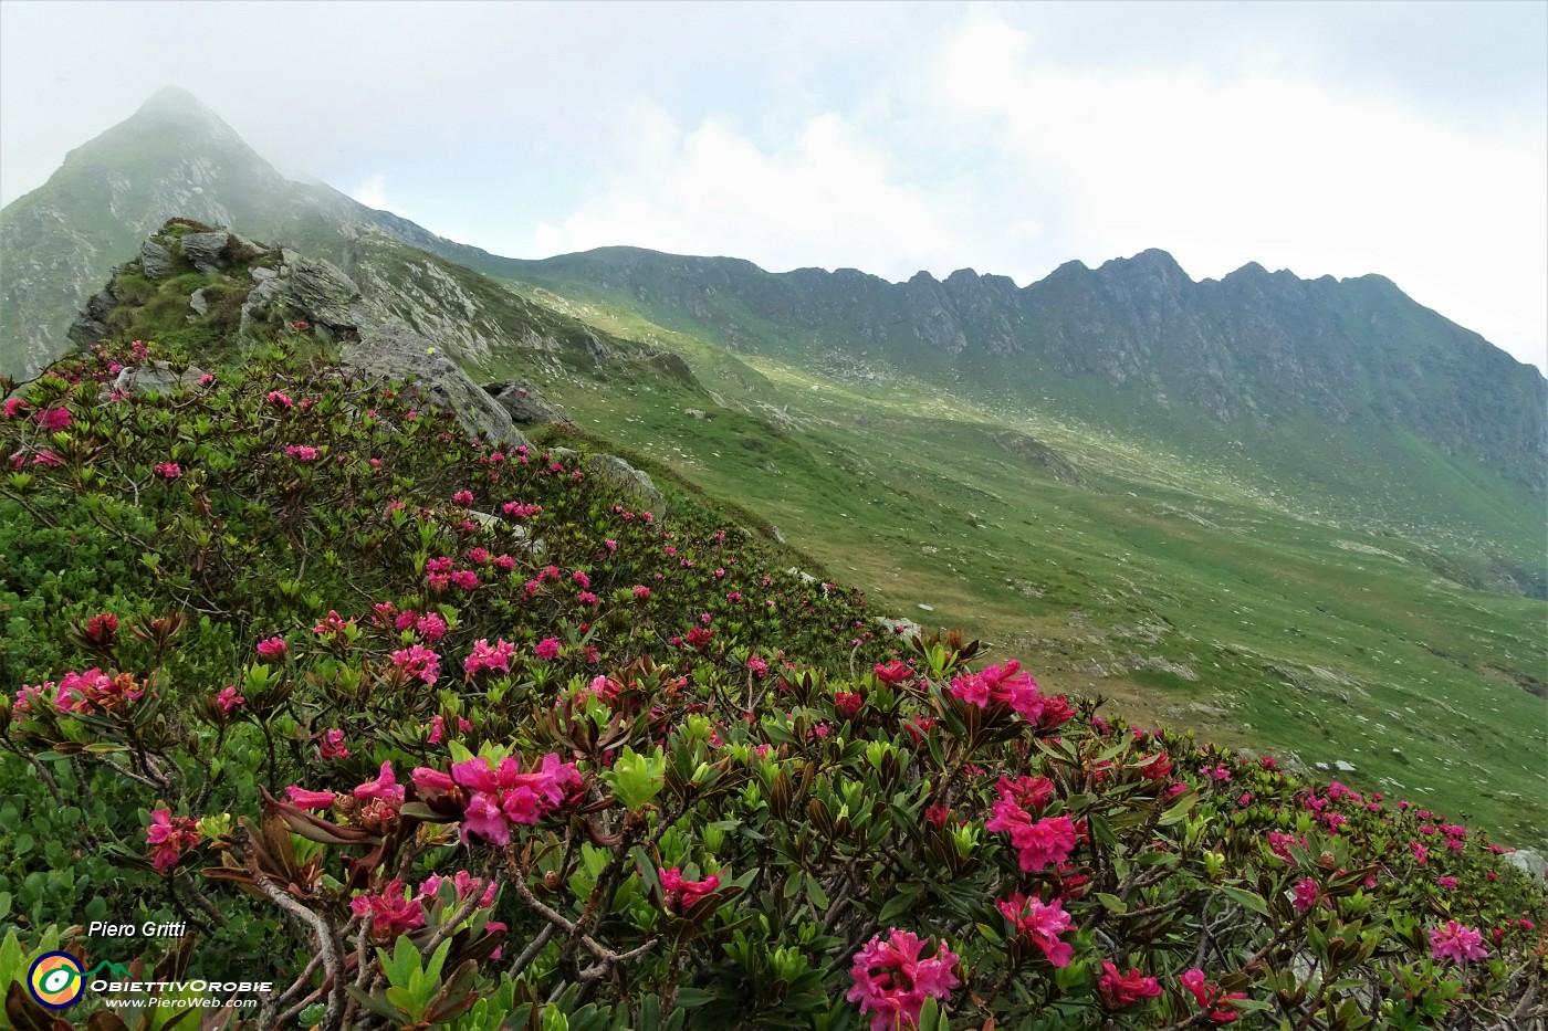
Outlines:
MULTIPOLYGON (((1506 839, 1548 839, 1548 777, 1534 762, 1548 751, 1548 703, 1523 687, 1548 666, 1545 607, 1464 587, 1455 560, 1385 529, 1401 497, 1384 500, 1392 519, 1345 516, 1337 494, 1393 455, 1319 474, 1314 435, 1299 454, 1255 455, 1269 469, 1302 461, 1308 486, 1286 497, 1254 471, 1257 441, 1231 457, 1201 432, 1167 450, 1084 429, 1060 412, 1070 398, 1009 410, 969 389, 845 385, 533 296, 680 350, 728 406, 697 420, 684 413, 706 407, 697 392, 576 376, 551 390, 576 423, 765 512, 882 608, 985 635, 1054 689, 1308 765, 1344 760, 1358 769, 1328 776, 1464 811, 1506 839), (780 429, 759 402, 789 406, 799 427, 780 429), (1054 446, 1087 486, 1029 468, 991 437, 1003 427, 1054 446)), ((1437 478, 1461 475, 1421 443, 1402 446, 1437 478)), ((1519 525, 1512 505, 1489 505, 1469 522, 1519 525)), ((1444 526, 1409 525, 1444 542, 1444 526)))

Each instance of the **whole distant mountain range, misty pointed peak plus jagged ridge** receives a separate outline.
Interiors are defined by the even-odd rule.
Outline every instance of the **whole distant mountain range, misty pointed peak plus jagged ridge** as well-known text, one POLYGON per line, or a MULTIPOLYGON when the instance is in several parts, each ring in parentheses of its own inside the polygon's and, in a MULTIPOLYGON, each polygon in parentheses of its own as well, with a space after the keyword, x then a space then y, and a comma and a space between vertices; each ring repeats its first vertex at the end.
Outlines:
POLYGON ((28 375, 63 353, 87 297, 172 215, 330 257, 463 361, 522 348, 534 324, 579 331, 498 286, 525 282, 749 353, 845 356, 1070 404, 1105 392, 1119 429, 1175 421, 1178 409, 1228 427, 1313 420, 1412 435, 1534 495, 1548 488, 1548 381, 1381 276, 1303 280, 1248 265, 1194 282, 1164 251, 1098 269, 1070 262, 1025 288, 971 269, 890 283, 638 248, 502 259, 286 180, 176 88, 0 212, 0 372, 28 375))

